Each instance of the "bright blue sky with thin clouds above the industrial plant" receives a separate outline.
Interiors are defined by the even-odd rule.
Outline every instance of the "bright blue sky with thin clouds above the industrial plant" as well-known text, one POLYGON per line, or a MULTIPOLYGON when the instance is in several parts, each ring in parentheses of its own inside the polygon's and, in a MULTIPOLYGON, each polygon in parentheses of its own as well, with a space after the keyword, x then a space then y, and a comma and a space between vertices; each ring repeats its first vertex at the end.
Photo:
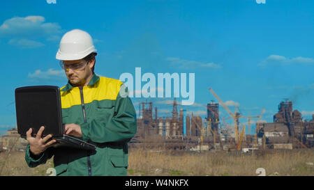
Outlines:
MULTIPOLYGON (((314 1, 34 0, 3 1, 2 7, 0 134, 16 123, 15 88, 66 84, 55 55, 71 29, 94 38, 102 76, 119 79, 136 67, 156 76, 195 73, 195 104, 179 108, 203 118, 204 105, 216 101, 209 87, 244 116, 264 108, 267 122, 284 98, 304 119, 314 114, 314 1)), ((133 98, 136 109, 141 101, 133 98)), ((170 116, 172 98, 147 101, 159 116, 170 116)), ((222 106, 220 112, 229 117, 222 106)))

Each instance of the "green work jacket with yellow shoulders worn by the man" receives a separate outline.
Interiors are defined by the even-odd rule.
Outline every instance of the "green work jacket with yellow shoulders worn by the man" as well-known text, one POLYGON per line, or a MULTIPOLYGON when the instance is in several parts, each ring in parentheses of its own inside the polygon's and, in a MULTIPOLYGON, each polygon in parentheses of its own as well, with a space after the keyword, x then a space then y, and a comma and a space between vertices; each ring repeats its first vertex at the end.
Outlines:
POLYGON ((126 175, 128 141, 136 133, 136 113, 129 97, 121 96, 123 83, 94 74, 87 86, 60 88, 63 124, 81 126, 82 140, 96 150, 50 147, 35 157, 29 151, 29 167, 45 164, 54 156, 57 175, 126 175))

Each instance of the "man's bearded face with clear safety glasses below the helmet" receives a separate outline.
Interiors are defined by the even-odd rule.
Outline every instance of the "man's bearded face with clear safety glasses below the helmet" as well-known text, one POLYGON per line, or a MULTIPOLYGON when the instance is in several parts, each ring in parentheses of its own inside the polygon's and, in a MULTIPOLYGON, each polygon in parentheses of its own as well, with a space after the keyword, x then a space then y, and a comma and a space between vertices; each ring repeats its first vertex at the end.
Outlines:
POLYGON ((66 77, 73 86, 84 86, 87 79, 93 74, 91 68, 93 68, 95 61, 89 62, 84 59, 63 61, 64 70, 66 71, 66 77))

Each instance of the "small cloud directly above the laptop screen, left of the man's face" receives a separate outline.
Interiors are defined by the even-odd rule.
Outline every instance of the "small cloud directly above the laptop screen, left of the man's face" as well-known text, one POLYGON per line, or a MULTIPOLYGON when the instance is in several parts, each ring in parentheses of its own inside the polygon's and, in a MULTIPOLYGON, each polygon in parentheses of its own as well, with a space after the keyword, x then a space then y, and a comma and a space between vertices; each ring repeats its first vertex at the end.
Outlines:
POLYGON ((33 73, 29 73, 29 79, 33 81, 42 81, 42 80, 66 80, 66 74, 64 74, 64 70, 54 70, 49 69, 45 72, 41 70, 36 70, 33 73))

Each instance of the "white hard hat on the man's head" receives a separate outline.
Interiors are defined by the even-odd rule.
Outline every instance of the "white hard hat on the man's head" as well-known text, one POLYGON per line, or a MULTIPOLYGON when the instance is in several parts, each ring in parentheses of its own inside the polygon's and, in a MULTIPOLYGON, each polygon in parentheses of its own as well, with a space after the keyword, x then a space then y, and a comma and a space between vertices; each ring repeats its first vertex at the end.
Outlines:
POLYGON ((58 60, 78 60, 97 52, 91 35, 86 31, 74 29, 63 35, 56 55, 58 60))

